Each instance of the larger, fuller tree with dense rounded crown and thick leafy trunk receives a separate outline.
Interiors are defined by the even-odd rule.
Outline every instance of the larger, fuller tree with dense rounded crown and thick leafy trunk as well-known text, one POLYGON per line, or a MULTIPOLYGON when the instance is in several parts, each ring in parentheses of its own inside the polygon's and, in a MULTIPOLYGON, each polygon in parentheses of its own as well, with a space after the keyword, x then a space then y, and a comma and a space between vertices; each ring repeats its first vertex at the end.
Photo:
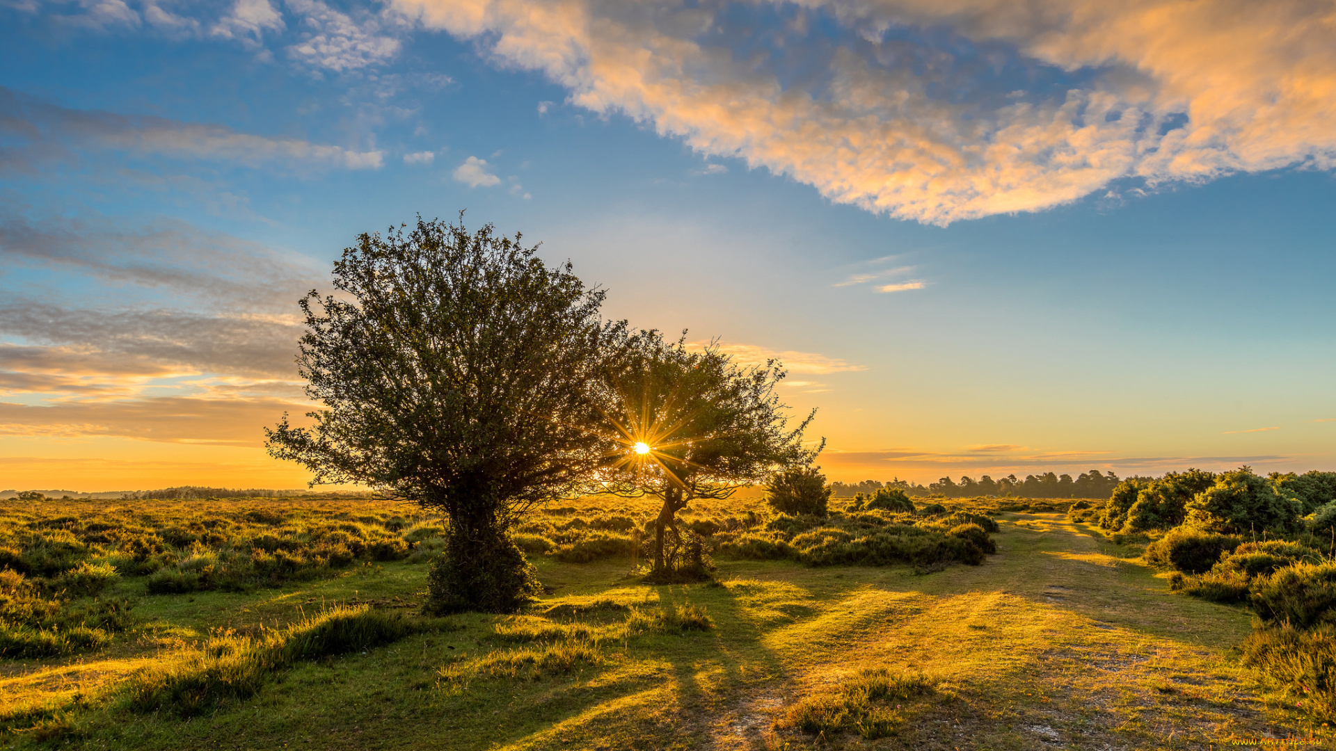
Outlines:
POLYGON ((301 301, 298 366, 323 409, 285 414, 270 453, 315 484, 358 482, 449 517, 430 607, 509 611, 532 569, 510 541, 533 505, 588 490, 605 464, 596 396, 607 347, 604 293, 569 262, 546 266, 490 224, 422 220, 363 234, 334 263, 335 294, 301 301), (403 227, 403 226, 401 226, 403 227))

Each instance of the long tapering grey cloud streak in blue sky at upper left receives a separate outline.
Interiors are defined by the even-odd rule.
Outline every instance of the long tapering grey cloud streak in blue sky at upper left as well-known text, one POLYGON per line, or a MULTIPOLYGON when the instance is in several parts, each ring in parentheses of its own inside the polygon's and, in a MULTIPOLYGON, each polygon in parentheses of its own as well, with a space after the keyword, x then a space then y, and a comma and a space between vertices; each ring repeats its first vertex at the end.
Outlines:
POLYGON ((35 171, 43 162, 80 151, 123 151, 257 167, 287 163, 374 170, 383 160, 381 151, 244 134, 215 123, 72 110, 0 87, 0 170, 35 171))

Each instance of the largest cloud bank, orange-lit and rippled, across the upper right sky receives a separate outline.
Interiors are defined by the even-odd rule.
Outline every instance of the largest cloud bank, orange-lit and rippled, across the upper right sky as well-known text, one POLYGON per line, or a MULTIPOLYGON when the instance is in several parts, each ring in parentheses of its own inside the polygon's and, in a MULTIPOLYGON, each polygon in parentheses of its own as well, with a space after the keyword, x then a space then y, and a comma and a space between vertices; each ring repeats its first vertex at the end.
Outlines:
POLYGON ((394 3, 580 107, 904 219, 1037 211, 1120 178, 1336 166, 1328 3, 814 0, 766 7, 794 16, 772 56, 733 47, 756 23, 733 5, 394 3))

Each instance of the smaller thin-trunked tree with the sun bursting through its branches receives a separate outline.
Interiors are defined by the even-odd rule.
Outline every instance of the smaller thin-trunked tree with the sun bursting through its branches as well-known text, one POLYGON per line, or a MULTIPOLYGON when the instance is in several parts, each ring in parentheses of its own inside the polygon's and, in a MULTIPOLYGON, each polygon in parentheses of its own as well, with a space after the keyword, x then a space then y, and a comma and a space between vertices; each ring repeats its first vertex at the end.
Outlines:
POLYGON ((741 367, 713 343, 691 350, 685 335, 665 342, 657 331, 629 337, 623 355, 611 361, 607 409, 627 450, 607 486, 663 500, 652 579, 673 576, 673 553, 683 541, 676 514, 691 501, 727 498, 808 464, 820 450, 803 445, 815 410, 787 426, 775 393, 783 377, 776 361, 741 367))

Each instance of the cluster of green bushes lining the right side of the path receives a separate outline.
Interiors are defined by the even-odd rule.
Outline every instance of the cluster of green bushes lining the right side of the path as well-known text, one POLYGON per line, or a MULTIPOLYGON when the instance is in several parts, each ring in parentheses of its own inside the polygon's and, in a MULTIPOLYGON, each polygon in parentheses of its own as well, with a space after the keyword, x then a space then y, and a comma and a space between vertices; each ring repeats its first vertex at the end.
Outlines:
POLYGON ((1170 588, 1256 616, 1245 663, 1317 720, 1336 722, 1336 473, 1169 473, 1067 512, 1113 539, 1142 535, 1170 588))

